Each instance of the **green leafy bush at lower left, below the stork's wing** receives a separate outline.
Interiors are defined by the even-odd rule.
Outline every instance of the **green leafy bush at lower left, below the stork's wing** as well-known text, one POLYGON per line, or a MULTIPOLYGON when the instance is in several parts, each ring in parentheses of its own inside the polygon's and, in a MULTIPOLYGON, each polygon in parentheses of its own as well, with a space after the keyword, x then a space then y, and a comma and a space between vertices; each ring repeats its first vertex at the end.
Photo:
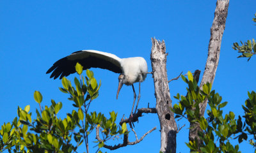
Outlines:
POLYGON ((51 106, 42 108, 42 94, 35 91, 34 98, 40 107, 40 110, 36 109, 36 118, 32 120, 29 105, 24 109, 18 106, 18 117, 1 126, 0 152, 76 152, 83 143, 86 146, 84 150, 89 150, 88 136, 96 127, 102 133, 102 142, 95 142, 100 149, 106 141, 127 133, 125 123, 122 126, 115 123, 117 113, 111 112, 106 118, 102 113, 88 112, 93 99, 99 96, 100 84, 92 71, 87 69, 87 77, 84 78, 82 70, 83 67, 77 64, 80 79, 74 78, 75 86, 65 77, 61 80, 63 87, 60 91, 69 94, 68 99, 73 101, 75 109, 61 119, 58 112, 62 103, 51 100, 51 106))

